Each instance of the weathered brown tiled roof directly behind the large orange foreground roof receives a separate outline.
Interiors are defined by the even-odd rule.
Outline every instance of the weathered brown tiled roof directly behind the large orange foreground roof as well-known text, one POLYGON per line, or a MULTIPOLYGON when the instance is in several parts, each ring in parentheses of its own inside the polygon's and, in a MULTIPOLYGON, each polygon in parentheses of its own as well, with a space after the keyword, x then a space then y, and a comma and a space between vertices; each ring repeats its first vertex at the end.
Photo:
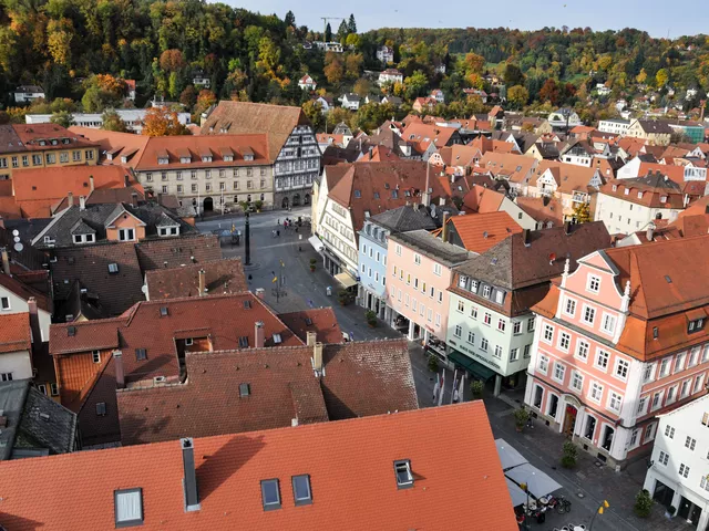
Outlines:
POLYGON ((117 393, 123 445, 160 442, 417 409, 405 341, 189 353, 185 384, 117 393), (239 384, 249 385, 248 397, 239 384), (208 410, 208 418, 204 412, 208 410))

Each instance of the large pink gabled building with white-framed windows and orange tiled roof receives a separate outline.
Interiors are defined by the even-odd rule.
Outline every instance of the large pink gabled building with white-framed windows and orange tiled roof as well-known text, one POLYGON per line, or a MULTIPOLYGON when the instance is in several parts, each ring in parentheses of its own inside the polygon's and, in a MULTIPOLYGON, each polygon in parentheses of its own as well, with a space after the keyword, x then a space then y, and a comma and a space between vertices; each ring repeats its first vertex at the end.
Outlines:
POLYGON ((594 252, 533 308, 525 404, 610 465, 649 451, 656 416, 706 394, 702 246, 707 237, 594 252))

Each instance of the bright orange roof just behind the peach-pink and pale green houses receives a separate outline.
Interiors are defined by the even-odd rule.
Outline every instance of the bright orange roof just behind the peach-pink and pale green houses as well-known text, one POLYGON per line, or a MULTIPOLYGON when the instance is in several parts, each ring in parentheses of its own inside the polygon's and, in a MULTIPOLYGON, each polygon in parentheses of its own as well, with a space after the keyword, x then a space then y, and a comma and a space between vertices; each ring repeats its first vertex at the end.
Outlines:
POLYGON ((465 249, 477 253, 485 252, 508 236, 522 232, 522 227, 505 211, 453 216, 449 222, 455 228, 465 249))

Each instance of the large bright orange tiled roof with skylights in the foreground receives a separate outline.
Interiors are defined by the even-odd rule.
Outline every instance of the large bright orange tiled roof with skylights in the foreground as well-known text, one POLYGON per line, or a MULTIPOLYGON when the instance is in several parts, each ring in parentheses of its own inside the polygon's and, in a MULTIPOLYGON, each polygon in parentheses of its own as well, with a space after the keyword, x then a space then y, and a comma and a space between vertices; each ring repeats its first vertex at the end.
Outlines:
POLYGON ((0 523, 13 531, 114 529, 114 492, 141 488, 146 531, 517 530, 482 400, 209 437, 194 448, 197 511, 185 511, 181 445, 169 441, 1 462, 0 523), (454 440, 476 458, 441 451, 454 440), (399 459, 410 460, 410 489, 397 488, 399 459), (312 503, 296 507, 291 477, 304 473, 312 503), (47 478, 61 478, 66 496, 47 478), (279 479, 282 507, 264 511, 259 485, 269 478, 279 479))

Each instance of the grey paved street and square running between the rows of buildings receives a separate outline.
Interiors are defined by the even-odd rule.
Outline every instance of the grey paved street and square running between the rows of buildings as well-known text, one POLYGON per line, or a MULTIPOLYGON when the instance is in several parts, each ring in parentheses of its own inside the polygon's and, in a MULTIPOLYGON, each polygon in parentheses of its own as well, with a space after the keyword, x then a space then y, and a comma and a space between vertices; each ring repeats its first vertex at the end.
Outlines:
MULTIPOLYGON (((322 270, 320 256, 315 252, 308 238, 309 228, 304 227, 298 233, 294 229, 284 230, 285 217, 297 219, 298 216, 309 216, 310 207, 294 209, 291 212, 282 210, 256 214, 250 217, 251 227, 251 266, 245 268, 248 283, 251 290, 264 288, 266 301, 277 312, 291 312, 308 308, 332 306, 343 332, 351 333, 354 340, 377 340, 386 337, 401 337, 383 323, 377 327, 369 327, 364 322, 364 310, 356 304, 341 306, 338 304, 336 293, 337 281, 322 270), (273 238, 271 231, 280 221, 280 237, 273 238), (298 248, 301 248, 299 251, 298 248), (317 259, 317 269, 309 269, 310 259, 317 259), (280 261, 284 267, 281 268, 280 261), (282 273, 281 273, 282 272, 282 273), (275 293, 275 284, 271 282, 276 275, 285 277, 282 292, 278 298, 275 293), (285 274, 284 274, 285 273, 285 274), (333 295, 326 294, 326 288, 331 285, 333 295)), ((232 223, 244 232, 244 217, 224 219, 208 219, 197 223, 203 232, 212 232, 217 229, 229 229, 232 223)), ((225 257, 244 258, 244 239, 239 247, 226 243, 223 247, 225 257)), ((411 364, 414 382, 421 407, 431 407, 434 378, 428 369, 427 360, 420 344, 410 343, 411 364)), ((444 404, 450 403, 452 372, 446 372, 446 393, 444 404)), ((645 478, 645 461, 641 460, 628 470, 615 472, 605 466, 599 466, 596 459, 579 451, 578 466, 574 470, 566 470, 558 466, 561 448, 564 438, 552 433, 543 425, 533 429, 525 428, 517 433, 514 428, 512 413, 514 407, 520 407, 522 396, 505 395, 506 399, 492 397, 492 389, 486 389, 484 398, 487 407, 490 423, 495 437, 502 437, 513 445, 534 466, 538 467, 563 486, 559 492, 572 500, 572 512, 565 516, 552 513, 547 516, 544 524, 530 523, 532 530, 552 530, 562 528, 568 523, 589 525, 590 519, 598 504, 607 499, 610 509, 603 516, 598 516, 594 523, 594 530, 609 531, 656 531, 693 529, 680 519, 666 520, 662 511, 655 508, 655 513, 648 520, 641 520, 634 516, 633 504, 635 494, 641 488, 645 478)), ((471 399, 470 391, 465 389, 465 399, 471 399)), ((474 448, 464 452, 464 441, 452 441, 462 445, 456 450, 454 458, 475 458, 474 448)), ((448 451, 442 448, 441 451, 448 451)))

